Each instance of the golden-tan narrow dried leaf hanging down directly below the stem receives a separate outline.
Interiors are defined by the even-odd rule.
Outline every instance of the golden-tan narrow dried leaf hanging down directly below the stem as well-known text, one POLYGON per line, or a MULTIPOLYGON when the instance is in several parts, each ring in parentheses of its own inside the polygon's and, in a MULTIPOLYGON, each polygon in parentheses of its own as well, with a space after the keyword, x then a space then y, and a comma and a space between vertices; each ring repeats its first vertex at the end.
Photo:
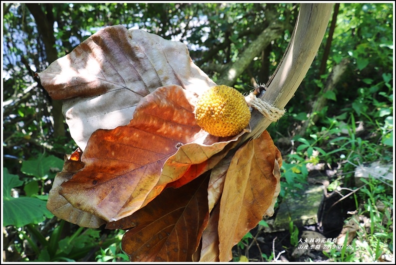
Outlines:
POLYGON ((279 153, 275 148, 264 131, 239 148, 231 160, 220 199, 220 262, 232 259, 232 247, 262 220, 272 204, 278 182, 274 170, 279 153))

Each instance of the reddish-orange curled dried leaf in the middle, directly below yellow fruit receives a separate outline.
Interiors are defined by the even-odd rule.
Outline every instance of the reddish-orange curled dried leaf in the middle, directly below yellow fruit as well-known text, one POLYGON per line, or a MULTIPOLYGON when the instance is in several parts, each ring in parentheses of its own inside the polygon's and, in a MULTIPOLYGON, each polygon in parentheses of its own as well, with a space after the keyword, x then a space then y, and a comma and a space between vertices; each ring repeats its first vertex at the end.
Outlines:
POLYGON ((128 126, 93 133, 82 155, 85 167, 61 185, 60 194, 84 212, 116 221, 238 138, 204 133, 191 97, 179 86, 158 88, 140 101, 128 126))

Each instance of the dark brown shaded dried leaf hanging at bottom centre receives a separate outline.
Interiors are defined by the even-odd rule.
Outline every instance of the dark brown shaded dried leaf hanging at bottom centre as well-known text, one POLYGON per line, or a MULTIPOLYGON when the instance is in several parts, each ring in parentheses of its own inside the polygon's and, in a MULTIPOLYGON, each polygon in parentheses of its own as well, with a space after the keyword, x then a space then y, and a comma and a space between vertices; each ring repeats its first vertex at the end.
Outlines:
POLYGON ((204 174, 181 188, 168 188, 146 207, 108 229, 126 229, 122 249, 131 262, 191 262, 208 221, 204 174))

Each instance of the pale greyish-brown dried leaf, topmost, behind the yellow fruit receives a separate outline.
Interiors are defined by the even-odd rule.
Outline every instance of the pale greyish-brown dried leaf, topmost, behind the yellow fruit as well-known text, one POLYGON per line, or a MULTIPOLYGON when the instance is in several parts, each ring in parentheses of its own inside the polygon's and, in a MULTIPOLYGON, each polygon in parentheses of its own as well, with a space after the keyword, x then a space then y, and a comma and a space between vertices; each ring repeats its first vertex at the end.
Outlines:
POLYGON ((179 85, 198 95, 214 86, 187 46, 122 25, 106 27, 37 74, 61 99, 70 134, 85 150, 97 129, 129 124, 138 102, 155 89, 179 85))

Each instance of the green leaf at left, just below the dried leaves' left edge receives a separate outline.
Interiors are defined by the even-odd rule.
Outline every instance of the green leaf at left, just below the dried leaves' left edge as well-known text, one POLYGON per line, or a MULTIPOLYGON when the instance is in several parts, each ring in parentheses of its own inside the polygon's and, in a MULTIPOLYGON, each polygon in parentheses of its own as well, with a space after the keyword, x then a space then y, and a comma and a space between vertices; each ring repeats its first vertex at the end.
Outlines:
POLYGON ((22 162, 23 173, 38 178, 54 178, 57 172, 63 167, 63 160, 53 155, 40 156, 38 159, 26 160, 22 162))

